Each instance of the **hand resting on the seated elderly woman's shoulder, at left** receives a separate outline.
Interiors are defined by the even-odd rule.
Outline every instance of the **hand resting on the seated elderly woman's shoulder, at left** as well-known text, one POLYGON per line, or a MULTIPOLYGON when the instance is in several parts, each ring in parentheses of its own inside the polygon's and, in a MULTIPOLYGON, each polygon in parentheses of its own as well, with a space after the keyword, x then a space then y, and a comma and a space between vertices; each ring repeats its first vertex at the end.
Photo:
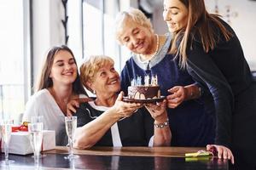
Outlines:
POLYGON ((81 103, 92 101, 90 98, 72 99, 67 103, 67 116, 73 116, 81 103))

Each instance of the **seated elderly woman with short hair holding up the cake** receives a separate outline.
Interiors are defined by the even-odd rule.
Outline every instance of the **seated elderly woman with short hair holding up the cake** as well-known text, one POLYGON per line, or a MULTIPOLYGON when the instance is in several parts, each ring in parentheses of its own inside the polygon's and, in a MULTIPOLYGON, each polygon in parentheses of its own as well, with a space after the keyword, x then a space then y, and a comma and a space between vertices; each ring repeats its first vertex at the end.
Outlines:
POLYGON ((150 139, 154 146, 169 145, 166 101, 148 105, 150 114, 141 104, 123 102, 123 93, 117 94, 120 80, 113 64, 107 56, 91 56, 80 67, 81 81, 96 94, 96 100, 81 104, 76 112, 74 147, 145 146, 150 139))

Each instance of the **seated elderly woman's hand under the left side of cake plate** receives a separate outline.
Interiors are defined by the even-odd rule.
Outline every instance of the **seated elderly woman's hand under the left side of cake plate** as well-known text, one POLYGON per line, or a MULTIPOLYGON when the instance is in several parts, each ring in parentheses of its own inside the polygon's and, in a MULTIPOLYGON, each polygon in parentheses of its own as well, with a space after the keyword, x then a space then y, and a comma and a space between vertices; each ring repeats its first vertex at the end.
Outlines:
POLYGON ((141 108, 143 105, 139 103, 126 103, 122 101, 124 96, 123 92, 120 92, 118 98, 116 99, 111 110, 114 114, 117 114, 119 118, 131 116, 137 109, 141 108))

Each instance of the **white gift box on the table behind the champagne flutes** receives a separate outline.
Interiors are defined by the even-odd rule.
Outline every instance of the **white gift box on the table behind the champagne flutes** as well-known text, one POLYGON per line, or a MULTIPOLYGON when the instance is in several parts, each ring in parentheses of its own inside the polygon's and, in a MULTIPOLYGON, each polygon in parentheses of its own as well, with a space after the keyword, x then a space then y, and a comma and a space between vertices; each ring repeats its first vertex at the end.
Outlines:
MULTIPOLYGON (((3 149, 2 141, 2 152, 3 149)), ((55 131, 44 130, 43 131, 43 144, 42 150, 55 149, 55 131)), ((25 131, 13 132, 9 141, 9 153, 18 155, 32 154, 32 146, 30 143, 30 133, 25 131)))

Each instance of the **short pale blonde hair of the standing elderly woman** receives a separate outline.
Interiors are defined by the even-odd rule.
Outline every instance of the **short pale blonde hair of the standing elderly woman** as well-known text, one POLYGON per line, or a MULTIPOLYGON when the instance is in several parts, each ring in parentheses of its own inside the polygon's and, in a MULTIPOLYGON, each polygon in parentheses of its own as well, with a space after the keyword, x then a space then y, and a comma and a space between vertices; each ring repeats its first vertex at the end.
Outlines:
POLYGON ((137 8, 129 8, 126 11, 119 12, 115 19, 115 38, 118 40, 119 43, 121 42, 120 35, 124 29, 124 24, 126 20, 131 20, 137 23, 139 26, 143 26, 148 28, 148 30, 154 32, 153 26, 150 20, 146 17, 143 12, 137 8))

